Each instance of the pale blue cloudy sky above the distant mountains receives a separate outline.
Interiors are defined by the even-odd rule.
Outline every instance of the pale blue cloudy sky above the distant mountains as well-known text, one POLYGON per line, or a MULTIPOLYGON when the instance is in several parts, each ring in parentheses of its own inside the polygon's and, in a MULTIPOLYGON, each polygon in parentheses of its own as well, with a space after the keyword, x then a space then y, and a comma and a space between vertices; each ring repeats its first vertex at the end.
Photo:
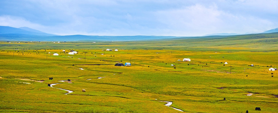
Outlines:
POLYGON ((56 35, 261 33, 277 20, 278 0, 0 0, 0 26, 56 35))

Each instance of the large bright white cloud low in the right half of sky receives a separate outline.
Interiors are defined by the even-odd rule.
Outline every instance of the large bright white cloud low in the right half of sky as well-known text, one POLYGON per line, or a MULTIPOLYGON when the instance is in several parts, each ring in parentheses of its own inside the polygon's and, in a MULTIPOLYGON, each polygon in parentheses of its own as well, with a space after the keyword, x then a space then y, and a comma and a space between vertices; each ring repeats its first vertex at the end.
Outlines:
MULTIPOLYGON (((246 33, 263 32, 273 25, 271 21, 252 15, 236 15, 224 12, 213 4, 203 6, 195 4, 182 9, 158 11, 156 13, 161 23, 167 24, 169 34, 205 35, 212 33, 246 33)), ((166 30, 167 31, 167 30, 166 30)))

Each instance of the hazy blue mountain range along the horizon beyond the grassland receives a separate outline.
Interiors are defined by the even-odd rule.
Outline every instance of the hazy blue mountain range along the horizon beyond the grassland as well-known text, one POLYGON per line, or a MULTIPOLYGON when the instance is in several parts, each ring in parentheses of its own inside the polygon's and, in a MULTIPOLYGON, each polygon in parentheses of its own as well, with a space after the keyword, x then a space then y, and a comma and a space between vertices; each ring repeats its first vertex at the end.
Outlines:
MULTIPOLYGON (((278 32, 278 28, 263 33, 278 32)), ((90 35, 53 35, 28 27, 14 28, 0 26, 0 40, 3 41, 126 41, 126 40, 160 40, 173 38, 209 38, 211 36, 243 35, 237 33, 216 33, 199 37, 189 36, 90 36, 90 35)))

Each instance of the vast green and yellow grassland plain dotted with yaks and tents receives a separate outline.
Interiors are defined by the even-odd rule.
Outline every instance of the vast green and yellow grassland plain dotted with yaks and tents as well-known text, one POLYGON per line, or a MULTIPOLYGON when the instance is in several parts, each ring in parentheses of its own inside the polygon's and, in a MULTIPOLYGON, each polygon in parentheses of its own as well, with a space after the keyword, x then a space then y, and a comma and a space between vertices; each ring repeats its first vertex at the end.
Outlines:
POLYGON ((277 41, 275 33, 97 43, 2 41, 0 112, 181 112, 160 102, 171 101, 187 113, 277 113, 278 74, 268 71, 278 66, 277 41), (191 62, 177 61, 183 58, 191 62), (131 67, 114 66, 130 61, 131 67), (71 83, 59 82, 67 79, 71 83), (48 87, 51 83, 60 84, 48 87))

